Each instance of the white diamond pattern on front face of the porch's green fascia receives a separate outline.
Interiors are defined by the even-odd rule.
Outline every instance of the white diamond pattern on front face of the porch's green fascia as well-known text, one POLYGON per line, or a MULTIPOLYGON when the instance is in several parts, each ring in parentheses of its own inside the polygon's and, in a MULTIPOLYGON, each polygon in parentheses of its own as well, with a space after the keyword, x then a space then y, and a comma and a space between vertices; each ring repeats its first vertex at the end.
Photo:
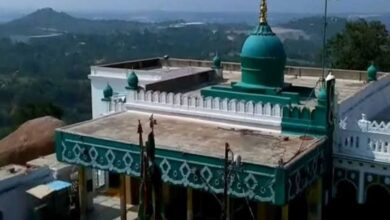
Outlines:
MULTIPOLYGON (((61 146, 61 161, 99 170, 126 173, 133 176, 140 175, 139 152, 130 149, 114 149, 109 146, 70 139, 64 139, 61 146), (83 150, 83 148, 87 150, 83 150), (69 152, 71 153, 69 154, 69 152), (92 159, 92 157, 95 159, 92 159)), ((156 160, 164 182, 214 193, 223 193, 223 166, 159 155, 156 155, 156 160), (200 172, 195 172, 195 170, 200 172)), ((239 198, 248 197, 262 202, 275 201, 274 175, 239 171, 233 175, 233 178, 234 180, 230 182, 228 191, 230 195, 239 198)))

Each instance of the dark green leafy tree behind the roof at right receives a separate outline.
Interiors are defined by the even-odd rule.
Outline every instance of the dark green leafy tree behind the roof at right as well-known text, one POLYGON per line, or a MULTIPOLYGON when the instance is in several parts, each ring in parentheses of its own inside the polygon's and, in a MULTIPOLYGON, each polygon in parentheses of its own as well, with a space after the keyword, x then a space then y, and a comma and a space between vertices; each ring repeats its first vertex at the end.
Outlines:
POLYGON ((363 19, 348 22, 345 30, 328 41, 329 60, 333 68, 367 69, 374 61, 381 70, 389 70, 389 35, 386 26, 379 21, 363 19))

